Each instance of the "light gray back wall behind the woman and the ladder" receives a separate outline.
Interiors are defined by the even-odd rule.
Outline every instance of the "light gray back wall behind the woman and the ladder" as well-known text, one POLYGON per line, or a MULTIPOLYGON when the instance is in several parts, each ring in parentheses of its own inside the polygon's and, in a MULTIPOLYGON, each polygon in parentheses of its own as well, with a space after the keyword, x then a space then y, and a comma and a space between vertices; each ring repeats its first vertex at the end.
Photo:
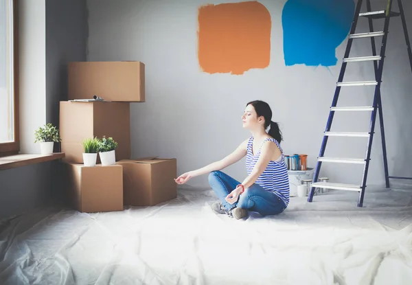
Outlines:
MULTIPOLYGON (((215 4, 237 1, 214 1, 215 4)), ((284 134, 286 154, 306 153, 308 165, 315 166, 323 130, 328 118, 345 46, 336 49, 339 62, 330 67, 286 67, 283 58, 282 8, 286 0, 262 0, 271 13, 271 65, 242 76, 202 73, 196 54, 198 7, 204 0, 137 1, 87 0, 89 8, 88 60, 141 60, 146 64, 146 102, 131 106, 133 157, 176 157, 178 172, 186 172, 222 159, 240 141, 249 137, 242 130, 240 115, 249 100, 271 104, 273 121, 284 134)), ((387 1, 374 1, 383 10, 387 1)), ((396 3, 393 4, 397 9, 396 3)), ((412 36, 412 3, 404 1, 409 34, 412 36)), ((367 21, 358 32, 367 32, 367 21)), ((383 21, 375 22, 376 29, 383 21)), ((412 176, 412 73, 399 18, 391 20, 387 58, 382 83, 387 128, 389 170, 393 175, 412 176), (407 155, 405 155, 407 154, 407 155), (409 155, 409 157, 408 157, 409 155)), ((380 38, 381 40, 381 38, 380 38)), ((380 44, 378 44, 380 46, 380 44)), ((354 43, 351 56, 371 54, 369 39, 354 43)), ((371 64, 347 67, 345 80, 371 80, 371 64)), ((341 93, 340 106, 371 105, 374 89, 353 87, 341 93)), ((332 130, 367 131, 369 113, 338 117, 332 130), (354 126, 351 126, 354 124, 354 126)), ((365 156, 362 138, 332 138, 326 155, 365 156)), ((373 144, 369 184, 382 185, 382 148, 379 128, 373 144)), ((247 175, 244 161, 227 169, 236 179, 247 175)), ((361 183, 361 166, 323 163, 322 176, 341 183, 361 183)), ((400 182, 400 181, 396 181, 400 182)), ((403 182, 403 181, 402 181, 403 182)), ((207 186, 207 176, 190 181, 207 186)))

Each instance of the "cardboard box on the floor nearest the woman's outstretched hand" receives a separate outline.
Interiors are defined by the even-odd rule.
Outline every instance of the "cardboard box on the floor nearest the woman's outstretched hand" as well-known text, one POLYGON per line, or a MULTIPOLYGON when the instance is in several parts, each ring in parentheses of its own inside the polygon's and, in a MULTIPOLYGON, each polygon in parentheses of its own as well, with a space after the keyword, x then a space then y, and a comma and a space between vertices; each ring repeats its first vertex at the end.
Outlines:
POLYGON ((176 159, 124 159, 124 205, 153 206, 177 196, 176 159))

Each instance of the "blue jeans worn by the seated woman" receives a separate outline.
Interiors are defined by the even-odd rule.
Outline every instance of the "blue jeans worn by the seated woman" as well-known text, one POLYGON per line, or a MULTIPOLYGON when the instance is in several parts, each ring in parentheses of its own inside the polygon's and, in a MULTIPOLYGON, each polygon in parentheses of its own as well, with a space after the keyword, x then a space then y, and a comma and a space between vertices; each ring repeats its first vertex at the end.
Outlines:
POLYGON ((240 207, 251 212, 258 212, 262 216, 267 216, 280 214, 286 208, 279 196, 264 190, 262 186, 256 183, 245 189, 236 203, 227 203, 225 200, 226 196, 235 190, 236 185, 240 184, 240 182, 221 171, 210 172, 209 184, 228 211, 234 207, 240 207))

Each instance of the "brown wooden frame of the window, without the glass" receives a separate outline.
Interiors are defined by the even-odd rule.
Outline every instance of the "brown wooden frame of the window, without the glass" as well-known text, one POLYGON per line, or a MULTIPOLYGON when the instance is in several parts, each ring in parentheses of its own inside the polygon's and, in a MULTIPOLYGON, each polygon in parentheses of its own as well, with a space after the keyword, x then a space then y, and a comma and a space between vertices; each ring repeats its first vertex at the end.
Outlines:
POLYGON ((16 155, 20 151, 19 128, 19 7, 18 0, 11 0, 13 14, 13 120, 14 138, 12 142, 0 143, 0 157, 16 155))

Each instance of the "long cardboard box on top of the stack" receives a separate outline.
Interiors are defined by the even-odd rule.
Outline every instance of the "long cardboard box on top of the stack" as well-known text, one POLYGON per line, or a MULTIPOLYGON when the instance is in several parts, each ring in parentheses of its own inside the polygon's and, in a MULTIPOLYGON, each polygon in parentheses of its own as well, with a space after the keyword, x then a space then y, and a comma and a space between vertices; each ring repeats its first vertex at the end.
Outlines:
POLYGON ((69 100, 145 102, 144 70, 139 61, 70 62, 69 100))

